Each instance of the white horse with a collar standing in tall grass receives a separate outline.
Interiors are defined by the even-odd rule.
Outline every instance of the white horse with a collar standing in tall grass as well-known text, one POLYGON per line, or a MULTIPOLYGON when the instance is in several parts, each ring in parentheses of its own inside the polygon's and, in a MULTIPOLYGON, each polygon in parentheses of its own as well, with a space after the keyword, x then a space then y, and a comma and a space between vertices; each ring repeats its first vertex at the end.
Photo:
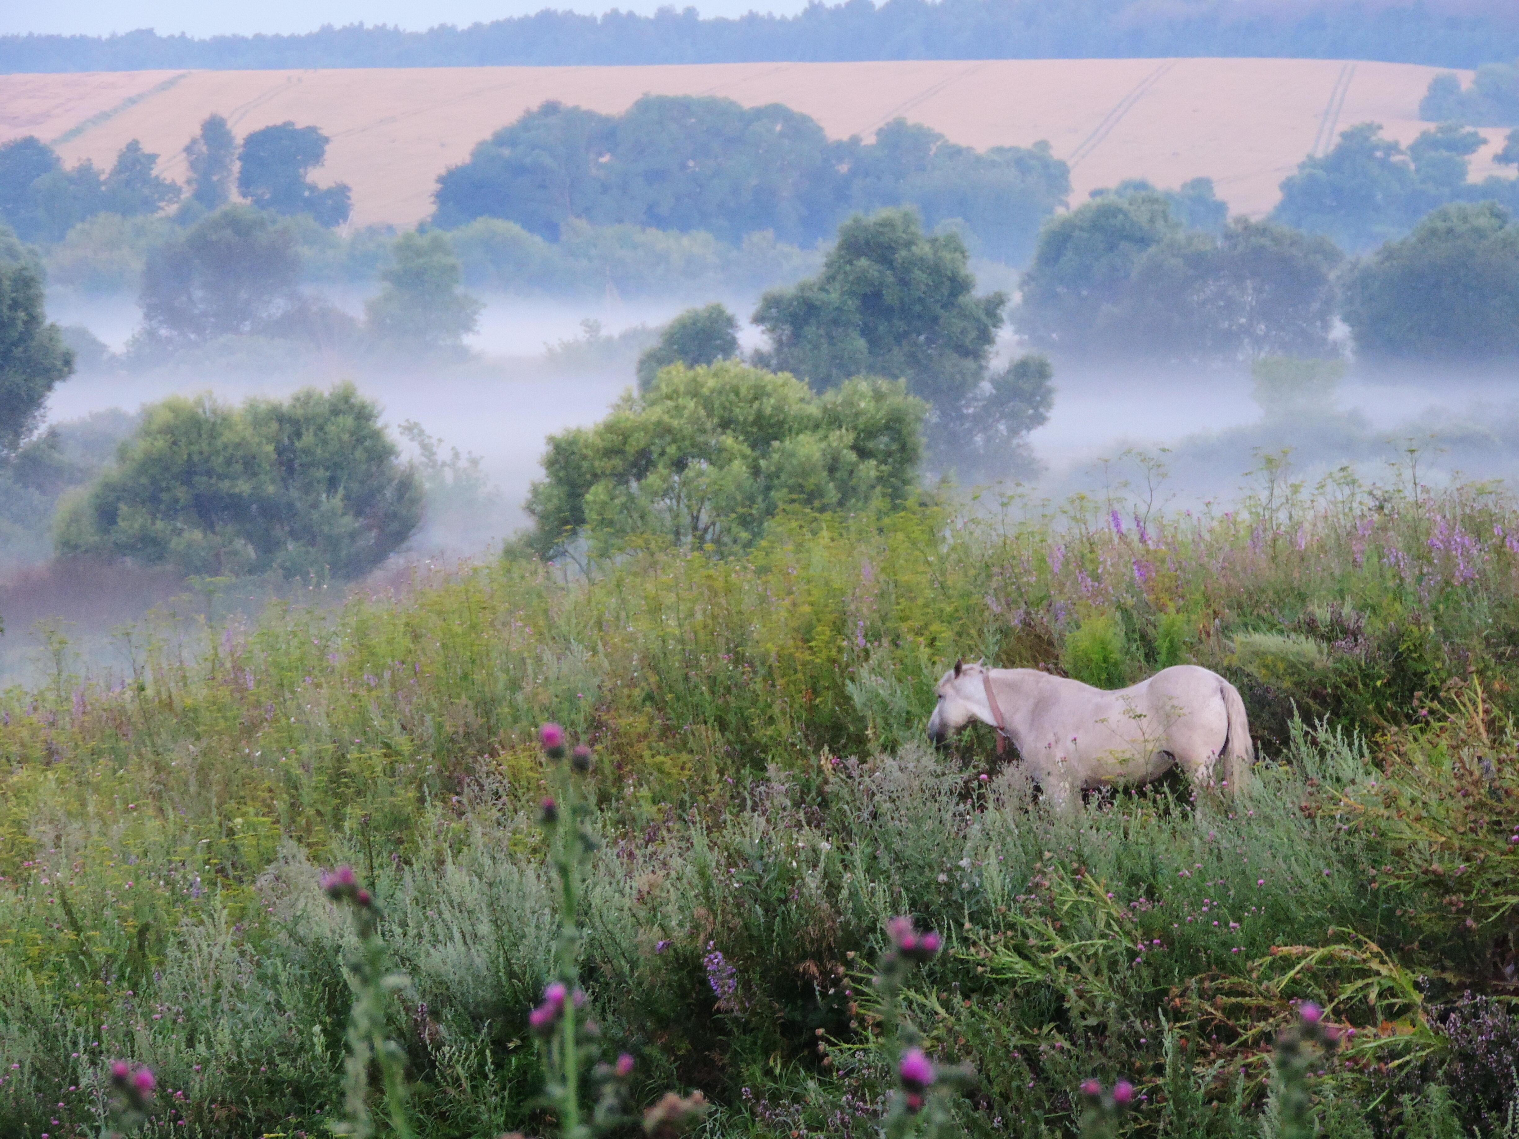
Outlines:
POLYGON ((1238 793, 1255 761, 1240 693, 1197 665, 1109 693, 1033 668, 955 661, 936 693, 936 744, 971 720, 990 724, 996 750, 1012 741, 1054 806, 1080 803, 1088 788, 1147 784, 1176 764, 1197 788, 1238 793))

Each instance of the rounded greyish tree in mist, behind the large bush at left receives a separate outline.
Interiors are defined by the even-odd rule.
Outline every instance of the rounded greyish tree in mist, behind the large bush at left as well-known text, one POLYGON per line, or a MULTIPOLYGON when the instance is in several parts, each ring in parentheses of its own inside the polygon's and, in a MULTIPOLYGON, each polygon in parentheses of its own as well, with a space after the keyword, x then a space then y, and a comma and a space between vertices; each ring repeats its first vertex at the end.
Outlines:
POLYGON ((267 333, 301 304, 292 234, 269 214, 232 205, 147 257, 143 327, 166 343, 267 333))

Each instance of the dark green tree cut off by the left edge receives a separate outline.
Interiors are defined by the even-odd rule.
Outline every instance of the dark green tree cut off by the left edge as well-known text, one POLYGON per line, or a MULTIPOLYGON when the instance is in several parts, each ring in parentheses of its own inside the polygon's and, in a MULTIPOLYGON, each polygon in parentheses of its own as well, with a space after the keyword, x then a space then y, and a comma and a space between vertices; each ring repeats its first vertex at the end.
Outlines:
POLYGON ((73 371, 73 352, 47 322, 41 273, 0 228, 0 463, 32 434, 53 386, 73 371))

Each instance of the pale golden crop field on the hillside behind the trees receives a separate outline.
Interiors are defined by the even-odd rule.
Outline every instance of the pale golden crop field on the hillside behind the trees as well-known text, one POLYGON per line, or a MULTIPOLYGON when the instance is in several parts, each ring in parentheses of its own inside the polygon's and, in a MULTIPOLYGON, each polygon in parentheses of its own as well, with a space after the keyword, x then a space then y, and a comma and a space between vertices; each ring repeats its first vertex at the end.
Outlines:
MULTIPOLYGON (((1206 175, 1236 213, 1262 214, 1277 184, 1337 131, 1376 120, 1408 143, 1434 68, 1317 59, 1030 59, 670 67, 472 67, 322 71, 106 71, 0 76, 0 140, 35 134, 70 162, 109 166, 132 138, 184 179, 181 147, 205 115, 237 134, 295 120, 333 138, 319 181, 354 191, 354 225, 413 225, 434 179, 545 99, 621 112, 644 93, 779 102, 837 137, 902 115, 957 143, 1047 138, 1075 199, 1123 178, 1177 185, 1206 175)), ((1489 131, 1498 138, 1501 131, 1489 131)), ((1473 178, 1492 172, 1487 149, 1473 178)))

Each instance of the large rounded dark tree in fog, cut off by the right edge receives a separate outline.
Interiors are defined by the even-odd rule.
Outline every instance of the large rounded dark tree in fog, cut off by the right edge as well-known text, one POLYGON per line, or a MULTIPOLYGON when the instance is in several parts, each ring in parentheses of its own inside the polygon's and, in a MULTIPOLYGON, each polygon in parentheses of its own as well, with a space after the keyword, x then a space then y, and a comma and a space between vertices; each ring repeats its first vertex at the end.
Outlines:
POLYGON ((1519 226, 1493 202, 1435 210, 1352 273, 1344 320, 1367 357, 1519 354, 1519 226))

